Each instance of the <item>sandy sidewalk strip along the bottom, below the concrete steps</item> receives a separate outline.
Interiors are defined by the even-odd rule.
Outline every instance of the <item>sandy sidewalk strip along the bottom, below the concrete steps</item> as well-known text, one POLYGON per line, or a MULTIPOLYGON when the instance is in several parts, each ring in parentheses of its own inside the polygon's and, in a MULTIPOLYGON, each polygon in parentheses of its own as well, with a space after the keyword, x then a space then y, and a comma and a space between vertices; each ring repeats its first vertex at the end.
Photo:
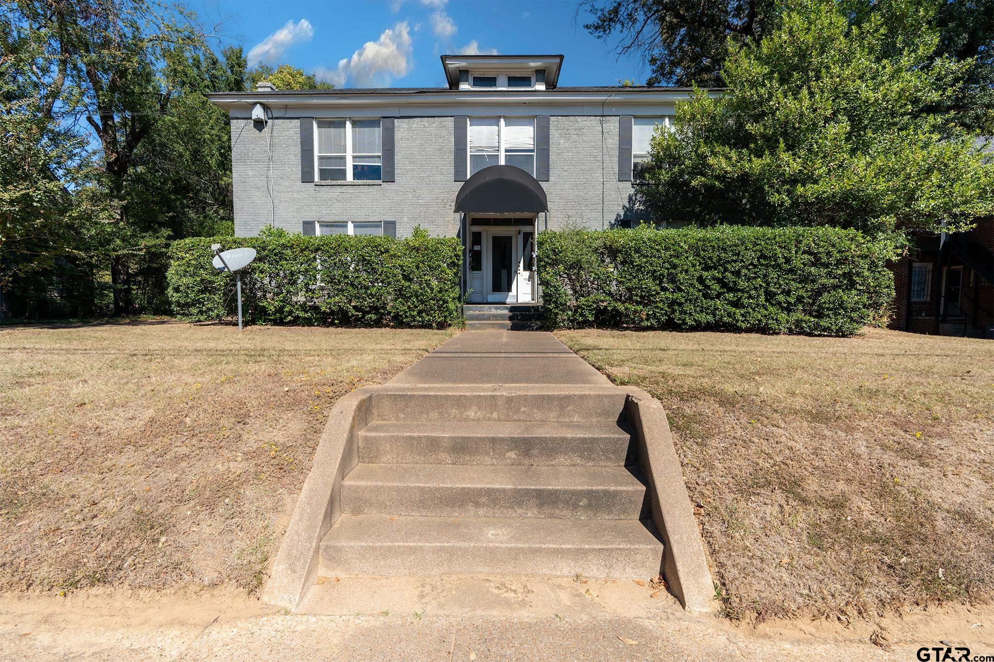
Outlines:
POLYGON ((887 619, 885 650, 870 641, 874 623, 736 627, 631 582, 342 578, 321 588, 324 615, 286 614, 224 588, 4 596, 0 660, 912 660, 946 636, 994 651, 990 609, 887 619), (963 630, 975 622, 985 627, 963 630))

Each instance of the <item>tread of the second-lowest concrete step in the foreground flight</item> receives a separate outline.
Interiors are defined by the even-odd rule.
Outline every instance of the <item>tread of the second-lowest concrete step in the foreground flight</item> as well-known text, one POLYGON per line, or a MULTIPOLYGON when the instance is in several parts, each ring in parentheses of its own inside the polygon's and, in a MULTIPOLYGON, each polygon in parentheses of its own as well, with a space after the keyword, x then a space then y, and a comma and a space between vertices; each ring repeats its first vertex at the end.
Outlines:
POLYGON ((343 487, 482 487, 644 492, 645 484, 626 466, 522 466, 514 464, 356 464, 343 487))

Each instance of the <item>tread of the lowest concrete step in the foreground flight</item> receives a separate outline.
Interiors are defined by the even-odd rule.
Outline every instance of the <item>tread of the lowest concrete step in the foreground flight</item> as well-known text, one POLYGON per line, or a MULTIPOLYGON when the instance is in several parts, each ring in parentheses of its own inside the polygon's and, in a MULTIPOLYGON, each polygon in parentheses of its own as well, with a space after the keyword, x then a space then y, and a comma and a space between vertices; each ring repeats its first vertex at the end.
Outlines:
MULTIPOLYGON (((342 515, 324 546, 505 547, 662 551, 649 521, 342 515)), ((660 554, 661 556, 661 554, 660 554)))

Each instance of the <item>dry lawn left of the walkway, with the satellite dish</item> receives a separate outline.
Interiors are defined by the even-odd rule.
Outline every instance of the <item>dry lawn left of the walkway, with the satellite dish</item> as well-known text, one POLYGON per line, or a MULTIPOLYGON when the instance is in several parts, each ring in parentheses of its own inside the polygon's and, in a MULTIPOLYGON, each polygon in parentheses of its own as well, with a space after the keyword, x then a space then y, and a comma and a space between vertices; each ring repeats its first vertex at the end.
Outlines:
POLYGON ((255 590, 331 405, 450 335, 0 328, 0 590, 255 590))

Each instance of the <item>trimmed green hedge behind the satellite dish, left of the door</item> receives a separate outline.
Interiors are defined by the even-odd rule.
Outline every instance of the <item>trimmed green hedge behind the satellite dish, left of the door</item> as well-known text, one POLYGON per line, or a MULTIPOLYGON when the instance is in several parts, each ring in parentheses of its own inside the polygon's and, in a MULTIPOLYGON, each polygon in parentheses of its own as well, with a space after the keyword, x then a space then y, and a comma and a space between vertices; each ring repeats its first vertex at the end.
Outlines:
POLYGON ((169 250, 173 313, 196 321, 235 315, 235 278, 211 265, 211 244, 250 246, 242 275, 248 323, 445 328, 459 319, 461 247, 454 237, 310 237, 266 230, 256 237, 195 237, 169 250))

